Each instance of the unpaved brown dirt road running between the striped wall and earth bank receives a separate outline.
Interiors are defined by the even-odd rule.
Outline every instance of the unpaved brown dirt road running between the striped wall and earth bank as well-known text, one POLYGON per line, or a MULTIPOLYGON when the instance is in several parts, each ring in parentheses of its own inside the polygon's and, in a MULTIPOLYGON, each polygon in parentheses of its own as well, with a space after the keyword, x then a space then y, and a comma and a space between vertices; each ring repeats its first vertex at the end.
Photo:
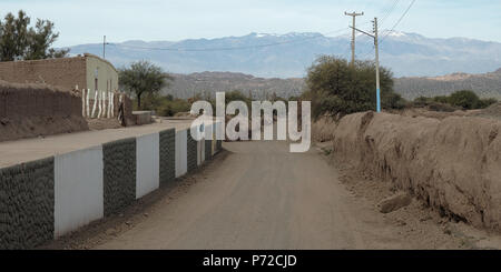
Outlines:
POLYGON ((174 189, 176 197, 163 197, 127 230, 85 248, 472 248, 464 235, 444 232, 434 213, 429 215, 419 203, 397 215, 381 214, 370 198, 346 189, 317 149, 289 153, 288 144, 277 141, 224 147, 227 153, 196 173, 196 182, 174 189), (421 214, 402 223, 413 209, 421 214), (426 220, 419 218, 423 212, 426 220))

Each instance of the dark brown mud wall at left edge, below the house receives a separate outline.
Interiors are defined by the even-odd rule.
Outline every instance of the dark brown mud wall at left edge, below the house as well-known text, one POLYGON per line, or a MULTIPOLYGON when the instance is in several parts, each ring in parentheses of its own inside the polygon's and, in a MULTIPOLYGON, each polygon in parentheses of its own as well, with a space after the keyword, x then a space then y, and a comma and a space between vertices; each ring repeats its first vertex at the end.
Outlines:
POLYGON ((78 92, 0 81, 0 141, 81 130, 88 125, 78 92))

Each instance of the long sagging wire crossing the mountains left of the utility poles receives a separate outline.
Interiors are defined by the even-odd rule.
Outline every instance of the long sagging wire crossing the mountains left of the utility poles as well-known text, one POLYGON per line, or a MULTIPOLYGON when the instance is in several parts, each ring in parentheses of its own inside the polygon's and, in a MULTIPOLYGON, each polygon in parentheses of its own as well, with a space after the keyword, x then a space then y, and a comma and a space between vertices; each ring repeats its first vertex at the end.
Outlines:
POLYGON ((244 47, 227 47, 227 48, 150 48, 150 47, 136 47, 136 46, 125 46, 125 44, 118 44, 118 43, 109 43, 115 47, 120 48, 130 48, 130 49, 141 49, 141 50, 156 50, 156 51, 185 51, 185 52, 212 52, 212 51, 233 51, 233 50, 244 50, 244 49, 254 49, 254 48, 265 48, 265 47, 275 47, 281 44, 288 44, 288 43, 296 43, 302 42, 305 40, 313 40, 321 37, 325 37, 328 34, 337 33, 343 30, 346 30, 347 28, 337 29, 324 34, 316 34, 312 37, 306 37, 298 40, 292 40, 292 41, 282 41, 282 42, 273 42, 273 43, 265 43, 265 44, 257 44, 257 46, 244 46, 244 47))

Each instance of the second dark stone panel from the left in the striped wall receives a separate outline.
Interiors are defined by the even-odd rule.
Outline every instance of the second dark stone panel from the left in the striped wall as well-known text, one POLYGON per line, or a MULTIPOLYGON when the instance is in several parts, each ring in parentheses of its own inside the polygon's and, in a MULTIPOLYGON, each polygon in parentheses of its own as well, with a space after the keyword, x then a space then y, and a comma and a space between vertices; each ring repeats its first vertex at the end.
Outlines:
POLYGON ((102 144, 105 216, 136 200, 136 138, 102 144))

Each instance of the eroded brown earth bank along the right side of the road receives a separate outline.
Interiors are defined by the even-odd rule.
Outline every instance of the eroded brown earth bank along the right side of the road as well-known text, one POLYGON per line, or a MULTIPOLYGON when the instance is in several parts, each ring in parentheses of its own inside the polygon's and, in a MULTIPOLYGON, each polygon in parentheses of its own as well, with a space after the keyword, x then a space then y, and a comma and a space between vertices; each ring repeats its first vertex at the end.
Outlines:
POLYGON ((390 113, 342 118, 336 157, 393 182, 443 215, 500 231, 501 122, 390 113))

